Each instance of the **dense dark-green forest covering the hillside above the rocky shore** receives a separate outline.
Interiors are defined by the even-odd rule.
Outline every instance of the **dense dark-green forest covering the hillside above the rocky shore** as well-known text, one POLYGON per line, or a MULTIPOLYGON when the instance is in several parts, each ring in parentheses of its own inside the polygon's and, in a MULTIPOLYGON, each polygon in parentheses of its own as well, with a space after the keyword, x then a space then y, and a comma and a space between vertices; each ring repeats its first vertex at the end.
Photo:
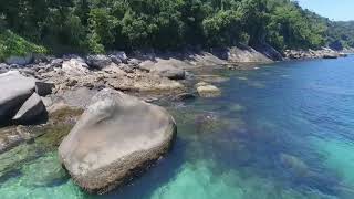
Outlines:
POLYGON ((11 30, 54 53, 264 42, 278 50, 335 41, 354 46, 353 27, 290 0, 0 1, 1 32, 11 30))

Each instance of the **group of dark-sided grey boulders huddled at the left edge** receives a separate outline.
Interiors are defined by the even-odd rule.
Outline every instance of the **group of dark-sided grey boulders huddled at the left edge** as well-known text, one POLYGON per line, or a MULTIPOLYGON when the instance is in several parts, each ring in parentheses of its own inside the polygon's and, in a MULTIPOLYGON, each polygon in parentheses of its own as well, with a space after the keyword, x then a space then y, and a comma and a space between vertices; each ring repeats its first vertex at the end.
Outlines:
POLYGON ((27 124, 45 116, 41 96, 51 94, 53 84, 25 77, 18 71, 0 74, 0 123, 27 124))

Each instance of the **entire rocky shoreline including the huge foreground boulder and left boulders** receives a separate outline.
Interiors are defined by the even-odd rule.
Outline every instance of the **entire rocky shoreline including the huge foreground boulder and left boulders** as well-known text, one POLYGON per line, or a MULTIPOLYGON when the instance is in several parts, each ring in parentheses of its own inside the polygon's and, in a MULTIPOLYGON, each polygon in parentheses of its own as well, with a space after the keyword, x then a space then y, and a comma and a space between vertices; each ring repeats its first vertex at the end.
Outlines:
MULTIPOLYGON (((283 60, 273 49, 264 49, 11 57, 0 64, 0 154, 42 136, 48 132, 43 129, 73 127, 65 127, 55 142, 59 146, 70 132, 59 149, 63 165, 83 189, 107 192, 149 168, 173 143, 176 124, 164 108, 149 104, 155 96, 174 101, 219 96, 221 91, 212 84, 222 77, 195 71, 212 65, 257 69, 256 64, 283 60), (117 126, 124 130, 116 132, 117 126), (117 147, 125 146, 122 137, 132 132, 137 132, 128 142, 135 142, 134 147, 117 147), (104 147, 107 143, 114 155, 104 147), (100 159, 102 154, 107 158, 100 159)), ((285 51, 284 60, 344 55, 329 49, 285 51)))

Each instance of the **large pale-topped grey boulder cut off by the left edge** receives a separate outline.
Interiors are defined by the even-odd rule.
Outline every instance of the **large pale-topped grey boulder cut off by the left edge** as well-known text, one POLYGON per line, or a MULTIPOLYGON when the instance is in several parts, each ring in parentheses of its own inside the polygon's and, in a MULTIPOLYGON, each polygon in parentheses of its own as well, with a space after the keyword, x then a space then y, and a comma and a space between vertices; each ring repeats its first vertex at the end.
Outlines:
POLYGON ((35 80, 18 71, 0 74, 0 123, 11 121, 22 104, 33 94, 35 80))

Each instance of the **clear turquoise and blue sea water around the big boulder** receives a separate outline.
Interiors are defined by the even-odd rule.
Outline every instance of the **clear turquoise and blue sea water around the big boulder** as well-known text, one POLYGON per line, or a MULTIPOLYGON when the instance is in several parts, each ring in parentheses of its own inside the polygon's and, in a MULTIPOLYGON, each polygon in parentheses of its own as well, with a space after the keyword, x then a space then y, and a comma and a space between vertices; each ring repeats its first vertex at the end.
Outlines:
POLYGON ((221 97, 162 102, 177 140, 132 185, 86 195, 58 165, 55 147, 29 144, 0 156, 0 165, 17 165, 0 167, 0 197, 354 198, 354 56, 216 73, 230 77, 218 84, 221 97))

